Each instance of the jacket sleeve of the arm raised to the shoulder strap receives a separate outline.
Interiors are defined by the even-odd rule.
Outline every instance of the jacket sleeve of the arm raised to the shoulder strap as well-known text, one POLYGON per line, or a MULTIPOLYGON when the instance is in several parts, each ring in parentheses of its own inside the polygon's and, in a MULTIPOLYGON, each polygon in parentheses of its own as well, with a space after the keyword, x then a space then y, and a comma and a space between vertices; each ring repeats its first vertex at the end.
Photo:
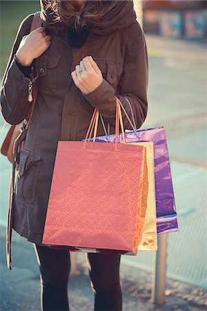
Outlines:
MULTIPOLYGON (((1 82, 1 113, 6 122, 13 125, 23 121, 31 106, 31 103, 28 102, 28 84, 30 82, 30 77, 28 77, 28 75, 30 75, 32 64, 28 66, 27 72, 23 72, 24 66, 21 67, 17 62, 16 52, 23 36, 30 33, 33 16, 34 14, 30 14, 21 21, 1 82)), ((34 66, 34 79, 32 79, 32 84, 37 77, 37 67, 34 66)))

